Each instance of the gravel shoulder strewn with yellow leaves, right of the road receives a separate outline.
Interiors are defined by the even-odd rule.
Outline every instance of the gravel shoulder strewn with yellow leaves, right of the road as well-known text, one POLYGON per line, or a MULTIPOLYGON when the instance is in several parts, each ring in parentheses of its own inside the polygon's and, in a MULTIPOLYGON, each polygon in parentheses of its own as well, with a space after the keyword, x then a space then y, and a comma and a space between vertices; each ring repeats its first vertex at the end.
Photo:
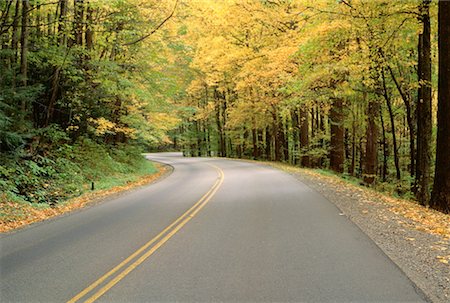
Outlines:
POLYGON ((335 204, 432 302, 450 302, 450 215, 337 176, 284 164, 269 165, 292 174, 335 204))

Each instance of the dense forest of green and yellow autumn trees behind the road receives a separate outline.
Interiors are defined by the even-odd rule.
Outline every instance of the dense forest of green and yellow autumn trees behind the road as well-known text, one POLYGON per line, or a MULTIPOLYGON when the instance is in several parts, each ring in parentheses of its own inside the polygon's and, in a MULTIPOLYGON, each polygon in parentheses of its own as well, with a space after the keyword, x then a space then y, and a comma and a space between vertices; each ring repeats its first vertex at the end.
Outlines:
POLYGON ((0 10, 7 198, 56 203, 141 151, 175 149, 330 169, 450 212, 450 1, 0 10))

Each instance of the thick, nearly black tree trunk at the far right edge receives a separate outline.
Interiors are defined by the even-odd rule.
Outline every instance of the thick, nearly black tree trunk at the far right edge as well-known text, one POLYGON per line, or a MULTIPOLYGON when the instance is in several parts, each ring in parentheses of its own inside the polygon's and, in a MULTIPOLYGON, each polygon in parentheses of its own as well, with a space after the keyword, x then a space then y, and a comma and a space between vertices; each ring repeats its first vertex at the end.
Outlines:
POLYGON ((430 206, 450 213, 450 2, 439 1, 436 170, 430 206))

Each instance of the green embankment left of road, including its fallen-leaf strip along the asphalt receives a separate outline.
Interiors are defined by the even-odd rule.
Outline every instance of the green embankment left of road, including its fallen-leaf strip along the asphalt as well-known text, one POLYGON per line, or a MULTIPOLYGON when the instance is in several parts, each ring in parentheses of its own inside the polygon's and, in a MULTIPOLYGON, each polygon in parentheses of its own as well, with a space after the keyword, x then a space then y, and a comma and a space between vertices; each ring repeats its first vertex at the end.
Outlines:
POLYGON ((108 147, 84 139, 73 145, 53 145, 47 151, 2 156, 0 232, 157 179, 166 168, 147 161, 141 152, 135 146, 108 147))

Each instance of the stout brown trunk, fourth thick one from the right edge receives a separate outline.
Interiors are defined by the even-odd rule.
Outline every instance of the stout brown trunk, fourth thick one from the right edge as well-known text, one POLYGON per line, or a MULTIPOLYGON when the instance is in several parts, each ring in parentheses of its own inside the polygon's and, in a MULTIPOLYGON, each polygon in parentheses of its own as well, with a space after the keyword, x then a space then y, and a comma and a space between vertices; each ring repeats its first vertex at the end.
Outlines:
POLYGON ((344 172, 344 103, 333 99, 330 109, 330 167, 338 173, 344 172))

